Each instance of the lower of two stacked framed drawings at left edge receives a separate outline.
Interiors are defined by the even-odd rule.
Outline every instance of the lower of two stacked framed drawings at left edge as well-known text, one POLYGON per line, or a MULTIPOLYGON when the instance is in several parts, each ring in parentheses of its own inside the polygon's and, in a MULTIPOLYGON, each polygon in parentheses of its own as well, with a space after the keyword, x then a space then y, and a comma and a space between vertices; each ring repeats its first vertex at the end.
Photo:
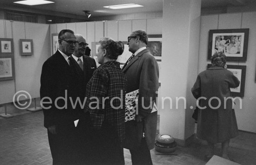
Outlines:
POLYGON ((14 79, 13 56, 0 56, 0 81, 14 79))

